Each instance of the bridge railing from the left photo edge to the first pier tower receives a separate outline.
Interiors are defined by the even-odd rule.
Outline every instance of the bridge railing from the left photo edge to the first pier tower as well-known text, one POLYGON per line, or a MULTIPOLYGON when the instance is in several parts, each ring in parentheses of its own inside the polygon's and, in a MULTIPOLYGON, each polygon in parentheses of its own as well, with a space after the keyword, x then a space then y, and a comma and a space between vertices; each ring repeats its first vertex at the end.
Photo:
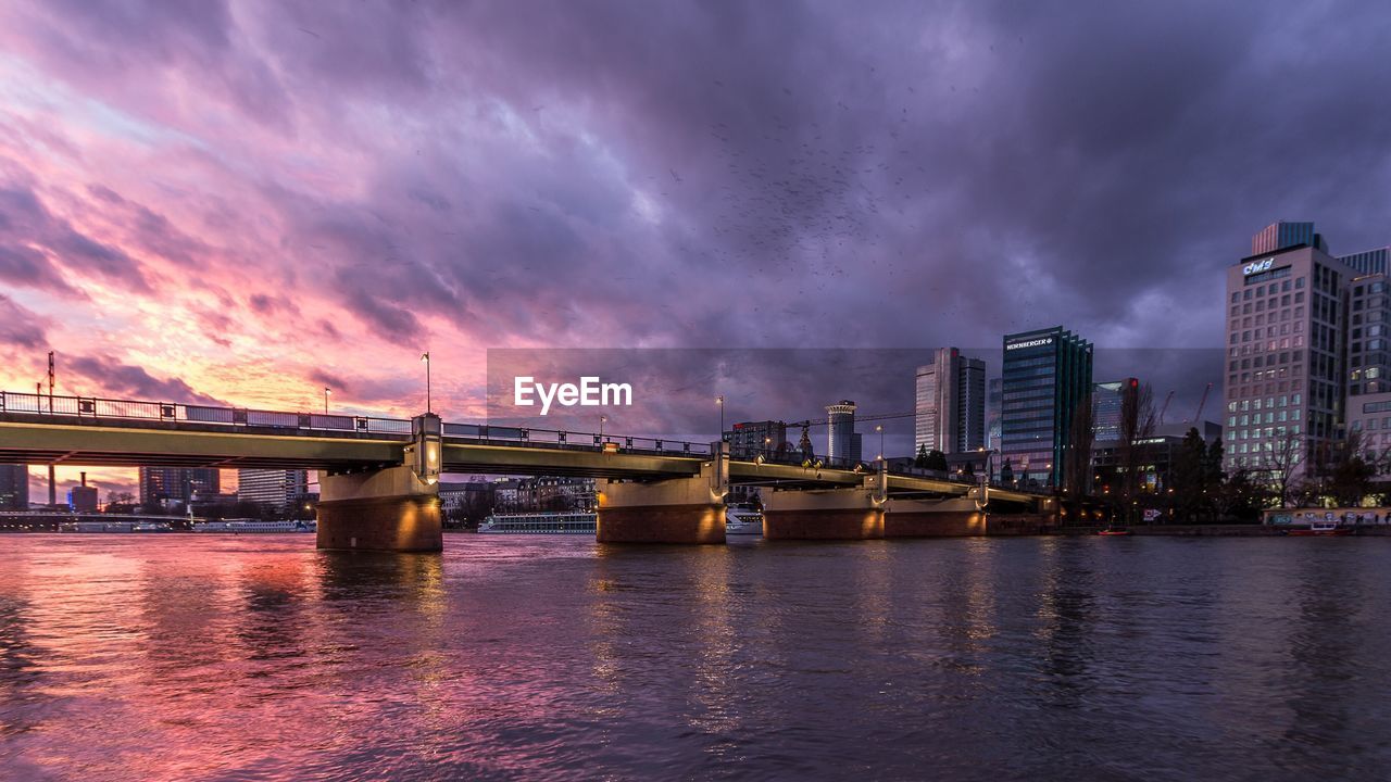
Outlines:
POLYGON ((223 408, 216 405, 107 399, 102 397, 50 397, 49 394, 22 394, 14 391, 0 391, 0 413, 74 416, 95 420, 203 423, 227 427, 352 431, 360 434, 410 434, 410 420, 408 419, 289 413, 284 410, 223 408))

